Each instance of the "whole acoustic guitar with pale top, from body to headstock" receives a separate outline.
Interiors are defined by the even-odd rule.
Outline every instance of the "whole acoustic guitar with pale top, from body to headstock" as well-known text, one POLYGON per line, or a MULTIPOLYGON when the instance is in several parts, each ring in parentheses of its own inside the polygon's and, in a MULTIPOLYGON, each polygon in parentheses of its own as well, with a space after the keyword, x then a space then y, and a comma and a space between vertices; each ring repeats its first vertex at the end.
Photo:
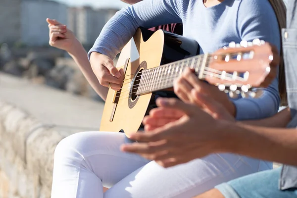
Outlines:
POLYGON ((254 97, 251 88, 267 87, 277 74, 278 51, 260 40, 232 42, 211 54, 198 51, 194 40, 138 29, 119 56, 117 68, 124 69, 125 78, 121 90, 108 91, 100 131, 123 130, 127 137, 137 132, 152 93, 172 88, 185 68, 231 97, 254 97))

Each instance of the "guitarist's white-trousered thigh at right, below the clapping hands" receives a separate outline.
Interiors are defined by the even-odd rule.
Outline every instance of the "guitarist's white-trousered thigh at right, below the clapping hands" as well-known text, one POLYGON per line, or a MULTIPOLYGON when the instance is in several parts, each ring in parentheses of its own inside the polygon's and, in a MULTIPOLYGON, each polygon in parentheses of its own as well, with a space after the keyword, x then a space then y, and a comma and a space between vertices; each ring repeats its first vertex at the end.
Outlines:
POLYGON ((234 154, 211 154, 171 168, 151 161, 115 184, 104 197, 191 198, 256 172, 258 166, 258 160, 234 154))

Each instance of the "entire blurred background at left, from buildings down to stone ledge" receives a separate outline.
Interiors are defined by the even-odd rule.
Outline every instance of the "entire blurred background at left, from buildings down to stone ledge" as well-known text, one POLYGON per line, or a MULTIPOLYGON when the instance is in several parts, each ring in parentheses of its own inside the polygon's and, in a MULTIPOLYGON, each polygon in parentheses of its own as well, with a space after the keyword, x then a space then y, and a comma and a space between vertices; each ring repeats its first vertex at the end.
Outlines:
POLYGON ((0 198, 50 198, 56 145, 99 131, 104 102, 68 53, 49 46, 46 18, 66 24, 88 51, 126 5, 0 0, 0 198))

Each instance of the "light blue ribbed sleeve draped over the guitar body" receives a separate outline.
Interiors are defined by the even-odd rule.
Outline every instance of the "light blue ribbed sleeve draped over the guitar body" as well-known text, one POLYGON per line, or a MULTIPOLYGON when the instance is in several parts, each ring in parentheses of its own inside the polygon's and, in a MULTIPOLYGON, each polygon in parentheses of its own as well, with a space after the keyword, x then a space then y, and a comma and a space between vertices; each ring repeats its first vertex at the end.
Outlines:
POLYGON ((181 23, 183 0, 143 0, 118 11, 103 27, 92 52, 114 58, 135 34, 137 28, 181 23))

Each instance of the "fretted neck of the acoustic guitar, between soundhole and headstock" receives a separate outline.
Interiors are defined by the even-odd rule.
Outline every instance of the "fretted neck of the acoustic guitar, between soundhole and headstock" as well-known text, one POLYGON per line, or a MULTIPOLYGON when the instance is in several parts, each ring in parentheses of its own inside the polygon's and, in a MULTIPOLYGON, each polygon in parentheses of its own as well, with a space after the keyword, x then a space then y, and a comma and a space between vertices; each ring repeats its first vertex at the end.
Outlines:
POLYGON ((197 55, 152 69, 144 70, 136 95, 148 94, 173 87, 173 82, 186 68, 195 69, 199 79, 208 65, 208 54, 197 55))

